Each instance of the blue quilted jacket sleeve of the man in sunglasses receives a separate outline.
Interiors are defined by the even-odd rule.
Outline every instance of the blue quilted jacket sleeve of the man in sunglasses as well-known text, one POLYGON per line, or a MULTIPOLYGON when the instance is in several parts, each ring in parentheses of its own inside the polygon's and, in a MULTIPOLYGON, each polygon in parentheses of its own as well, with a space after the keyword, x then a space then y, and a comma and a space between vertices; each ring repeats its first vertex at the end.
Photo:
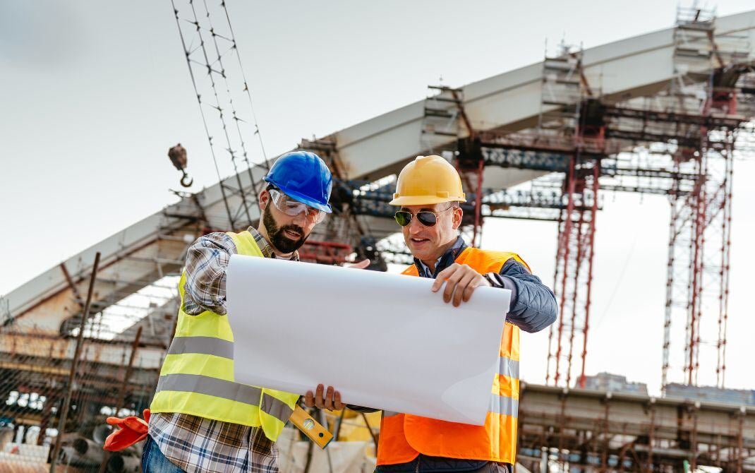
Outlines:
POLYGON ((511 305, 506 320, 525 332, 540 332, 556 321, 556 296, 524 264, 515 259, 506 261, 499 273, 485 274, 495 287, 511 289, 511 305))

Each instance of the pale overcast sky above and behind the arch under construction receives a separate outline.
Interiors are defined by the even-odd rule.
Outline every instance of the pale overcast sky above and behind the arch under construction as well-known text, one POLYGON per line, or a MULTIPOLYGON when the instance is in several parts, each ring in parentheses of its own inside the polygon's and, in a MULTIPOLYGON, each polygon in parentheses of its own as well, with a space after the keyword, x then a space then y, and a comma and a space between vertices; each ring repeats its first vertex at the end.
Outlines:
MULTIPOLYGON (((461 86, 538 62, 546 40, 589 48, 670 27, 676 5, 228 0, 273 155, 421 100, 441 80, 461 86)), ((751 5, 722 0, 717 10, 751 5)), ((178 141, 195 189, 217 181, 168 0, 0 0, 0 294, 173 202, 178 175, 165 153, 178 141)), ((728 384, 739 388, 755 388, 753 175, 753 162, 737 162, 728 384)), ((667 202, 606 195, 604 209, 587 372, 657 391, 667 202)), ((555 224, 492 221, 484 234, 485 248, 519 252, 553 283, 555 224)), ((525 380, 544 380, 546 343, 547 332, 522 336, 525 380)), ((713 369, 701 367, 701 382, 714 381, 713 369)))

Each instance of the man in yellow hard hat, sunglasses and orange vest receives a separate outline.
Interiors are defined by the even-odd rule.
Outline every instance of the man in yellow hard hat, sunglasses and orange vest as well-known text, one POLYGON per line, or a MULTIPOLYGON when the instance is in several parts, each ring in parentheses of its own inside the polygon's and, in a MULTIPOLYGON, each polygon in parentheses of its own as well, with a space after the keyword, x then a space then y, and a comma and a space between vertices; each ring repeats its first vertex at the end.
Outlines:
POLYGON ((418 156, 399 174, 390 205, 399 207, 396 222, 414 255, 403 274, 435 279, 431 290, 455 306, 463 307, 479 286, 512 291, 510 307, 501 308, 504 336, 485 425, 384 412, 376 470, 381 473, 510 472, 516 461, 519 331, 546 328, 558 308, 553 292, 519 255, 467 246, 458 233, 465 201, 454 166, 440 156, 418 156))

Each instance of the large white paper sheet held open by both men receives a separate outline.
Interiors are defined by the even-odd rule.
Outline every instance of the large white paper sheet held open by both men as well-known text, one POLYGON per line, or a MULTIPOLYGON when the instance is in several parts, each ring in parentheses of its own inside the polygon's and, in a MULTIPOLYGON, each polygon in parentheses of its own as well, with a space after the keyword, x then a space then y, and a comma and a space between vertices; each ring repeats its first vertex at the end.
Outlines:
POLYGON ((227 305, 236 382, 482 425, 511 292, 455 308, 432 280, 233 255, 227 305))

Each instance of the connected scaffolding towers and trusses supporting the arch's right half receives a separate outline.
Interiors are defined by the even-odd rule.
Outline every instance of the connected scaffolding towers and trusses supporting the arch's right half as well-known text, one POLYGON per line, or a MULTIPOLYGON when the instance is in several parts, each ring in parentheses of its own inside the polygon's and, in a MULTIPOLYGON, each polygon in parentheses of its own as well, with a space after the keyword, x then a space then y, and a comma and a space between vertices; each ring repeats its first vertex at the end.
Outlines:
MULTIPOLYGON (((572 386, 584 380, 602 190, 668 196, 662 384, 669 382, 671 369, 683 370, 685 382, 697 383, 701 351, 712 346, 716 384, 724 385, 732 156, 737 141, 751 141, 741 138, 751 134, 753 79, 750 67, 740 62, 747 58, 747 37, 715 36, 714 28, 712 12, 680 9, 673 80, 652 97, 624 101, 601 97, 587 82, 582 52, 562 46, 559 55, 543 62, 541 113, 537 127, 529 130, 476 131, 457 89, 435 87, 438 94, 426 100, 424 140, 433 137, 428 145, 433 153, 456 157, 470 197, 462 208, 472 243, 483 218, 558 223, 553 287, 561 314, 550 328, 547 383, 572 386), (453 136, 457 141, 448 142, 453 136), (532 181, 529 190, 489 189, 483 181, 488 167, 547 175, 532 181), (672 320, 673 326, 686 327, 683 336, 671 329, 672 320), (671 345, 685 347, 683 359, 681 352, 670 356, 671 345)), ((353 212, 392 215, 390 185, 359 185, 353 212)))

